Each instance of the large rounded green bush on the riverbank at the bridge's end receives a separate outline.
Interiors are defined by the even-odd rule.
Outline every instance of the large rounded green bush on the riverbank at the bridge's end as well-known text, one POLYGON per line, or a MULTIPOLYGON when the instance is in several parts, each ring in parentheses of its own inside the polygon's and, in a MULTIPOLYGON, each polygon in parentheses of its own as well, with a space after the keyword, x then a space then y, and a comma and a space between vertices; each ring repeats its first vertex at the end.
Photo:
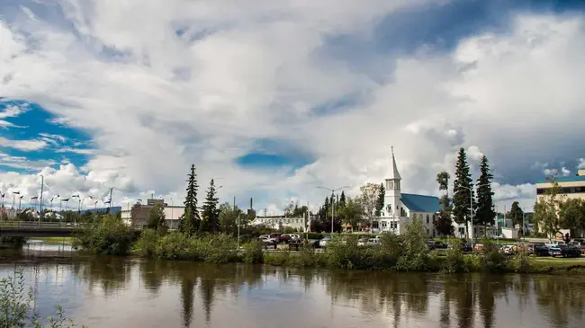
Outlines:
POLYGON ((97 217, 76 232, 73 246, 101 255, 125 255, 130 251, 132 231, 111 215, 97 217))

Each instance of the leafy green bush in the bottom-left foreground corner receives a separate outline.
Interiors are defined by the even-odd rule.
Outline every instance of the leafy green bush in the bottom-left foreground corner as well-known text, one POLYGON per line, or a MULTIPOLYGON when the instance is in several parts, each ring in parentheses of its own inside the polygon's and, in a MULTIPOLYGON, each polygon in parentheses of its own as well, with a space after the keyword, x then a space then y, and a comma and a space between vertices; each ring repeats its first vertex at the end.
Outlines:
POLYGON ((73 322, 63 315, 61 306, 57 306, 57 317, 47 318, 42 324, 34 307, 32 288, 24 291, 23 271, 16 270, 13 277, 0 279, 0 327, 34 327, 49 325, 51 328, 75 327, 73 322))

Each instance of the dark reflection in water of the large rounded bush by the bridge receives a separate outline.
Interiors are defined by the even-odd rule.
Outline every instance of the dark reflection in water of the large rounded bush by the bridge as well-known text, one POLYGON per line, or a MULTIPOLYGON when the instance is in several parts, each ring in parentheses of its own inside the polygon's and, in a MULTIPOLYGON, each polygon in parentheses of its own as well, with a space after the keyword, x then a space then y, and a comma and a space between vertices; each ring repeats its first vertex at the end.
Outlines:
POLYGON ((89 290, 99 286, 107 297, 130 281, 131 262, 113 256, 96 256, 84 262, 74 262, 74 275, 84 281, 89 290))

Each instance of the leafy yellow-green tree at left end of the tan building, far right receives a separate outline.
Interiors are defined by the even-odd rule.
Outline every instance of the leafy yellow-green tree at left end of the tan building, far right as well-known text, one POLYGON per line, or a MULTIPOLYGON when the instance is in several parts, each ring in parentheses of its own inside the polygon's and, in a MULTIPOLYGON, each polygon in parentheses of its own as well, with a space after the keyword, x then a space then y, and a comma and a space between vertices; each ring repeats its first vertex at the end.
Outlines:
POLYGON ((560 194, 561 187, 556 182, 556 176, 548 178, 551 188, 545 190, 545 194, 537 199, 535 205, 535 220, 546 235, 554 235, 561 229, 559 208, 564 197, 560 194))

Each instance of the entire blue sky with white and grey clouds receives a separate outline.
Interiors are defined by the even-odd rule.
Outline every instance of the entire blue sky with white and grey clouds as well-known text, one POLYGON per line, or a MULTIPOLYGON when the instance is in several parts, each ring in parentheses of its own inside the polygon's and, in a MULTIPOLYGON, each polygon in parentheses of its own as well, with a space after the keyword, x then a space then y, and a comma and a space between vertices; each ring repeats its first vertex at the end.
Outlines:
MULTIPOLYGON (((585 3, 4 0, 0 191, 280 214, 392 170, 438 195, 467 151, 500 211, 585 168, 585 3), (173 199, 173 200, 170 200, 173 199)), ((28 200, 27 200, 28 201, 28 200)), ((84 204, 90 206, 89 201, 84 204)))

